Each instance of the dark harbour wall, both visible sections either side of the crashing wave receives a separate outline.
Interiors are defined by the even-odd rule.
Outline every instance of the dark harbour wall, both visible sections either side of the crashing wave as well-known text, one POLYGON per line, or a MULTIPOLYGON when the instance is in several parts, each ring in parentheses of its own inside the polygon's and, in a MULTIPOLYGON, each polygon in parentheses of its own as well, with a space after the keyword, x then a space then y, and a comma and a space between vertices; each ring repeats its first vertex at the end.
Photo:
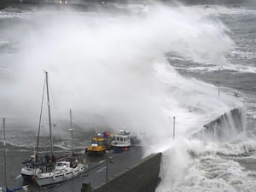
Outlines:
MULTIPOLYGON (((224 141, 236 137, 244 131, 246 112, 243 108, 233 108, 203 126, 193 137, 224 141)), ((161 154, 150 154, 137 165, 127 167, 123 172, 110 177, 107 183, 91 189, 90 183, 83 183, 81 192, 154 192, 160 183, 161 154)))

